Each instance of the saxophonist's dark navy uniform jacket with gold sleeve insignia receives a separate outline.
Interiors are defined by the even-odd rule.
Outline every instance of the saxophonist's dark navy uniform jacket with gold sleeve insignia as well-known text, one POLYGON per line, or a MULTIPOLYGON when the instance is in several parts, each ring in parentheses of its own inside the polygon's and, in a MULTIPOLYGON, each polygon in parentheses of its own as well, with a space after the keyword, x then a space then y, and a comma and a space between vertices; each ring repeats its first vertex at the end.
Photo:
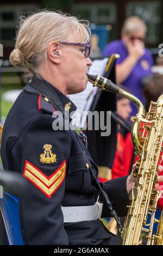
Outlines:
MULTIPOLYGON (((27 180, 27 190, 19 197, 24 243, 118 243, 100 220, 64 223, 61 205, 93 205, 99 195, 89 165, 96 176, 98 168, 84 142, 75 131, 52 128, 57 111, 64 112, 64 107, 75 111, 76 106, 57 88, 36 76, 23 89, 5 120, 1 157, 4 169, 21 173, 27 180)), ((127 215, 126 179, 103 184, 119 216, 127 215)), ((109 217, 105 200, 102 196, 99 200, 104 204, 102 217, 109 217)))

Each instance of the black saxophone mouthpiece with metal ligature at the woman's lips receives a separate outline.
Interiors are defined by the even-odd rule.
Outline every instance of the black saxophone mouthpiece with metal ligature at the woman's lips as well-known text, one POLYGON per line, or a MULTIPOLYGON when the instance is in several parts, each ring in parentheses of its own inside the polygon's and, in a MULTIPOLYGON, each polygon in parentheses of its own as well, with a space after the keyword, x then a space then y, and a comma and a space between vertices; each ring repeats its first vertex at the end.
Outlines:
POLYGON ((112 93, 121 94, 122 89, 118 87, 115 83, 112 83, 109 79, 99 76, 87 74, 88 80, 93 86, 97 86, 101 90, 109 90, 112 93))

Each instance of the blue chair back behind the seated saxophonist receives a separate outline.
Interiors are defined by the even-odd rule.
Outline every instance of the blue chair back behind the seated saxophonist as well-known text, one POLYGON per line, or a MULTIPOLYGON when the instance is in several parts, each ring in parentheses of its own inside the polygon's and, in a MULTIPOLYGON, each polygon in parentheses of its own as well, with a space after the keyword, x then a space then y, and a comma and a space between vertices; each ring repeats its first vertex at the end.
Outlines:
POLYGON ((21 234, 17 197, 3 192, 3 198, 0 198, 0 209, 9 245, 24 245, 21 234))

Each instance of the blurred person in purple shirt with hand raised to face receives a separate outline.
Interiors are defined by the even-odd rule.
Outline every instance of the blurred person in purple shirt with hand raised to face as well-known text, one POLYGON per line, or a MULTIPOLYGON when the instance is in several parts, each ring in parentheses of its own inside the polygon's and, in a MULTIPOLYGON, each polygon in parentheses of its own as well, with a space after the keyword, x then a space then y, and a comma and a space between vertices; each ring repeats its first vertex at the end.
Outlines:
MULTIPOLYGON (((129 17, 123 23, 121 40, 110 42, 103 51, 104 57, 112 53, 120 54, 116 62, 116 82, 127 87, 143 105, 146 104, 143 78, 152 74, 153 66, 152 54, 145 48, 146 32, 145 22, 137 16, 129 17)), ((132 102, 131 107, 131 115, 135 115, 137 109, 132 102)))

